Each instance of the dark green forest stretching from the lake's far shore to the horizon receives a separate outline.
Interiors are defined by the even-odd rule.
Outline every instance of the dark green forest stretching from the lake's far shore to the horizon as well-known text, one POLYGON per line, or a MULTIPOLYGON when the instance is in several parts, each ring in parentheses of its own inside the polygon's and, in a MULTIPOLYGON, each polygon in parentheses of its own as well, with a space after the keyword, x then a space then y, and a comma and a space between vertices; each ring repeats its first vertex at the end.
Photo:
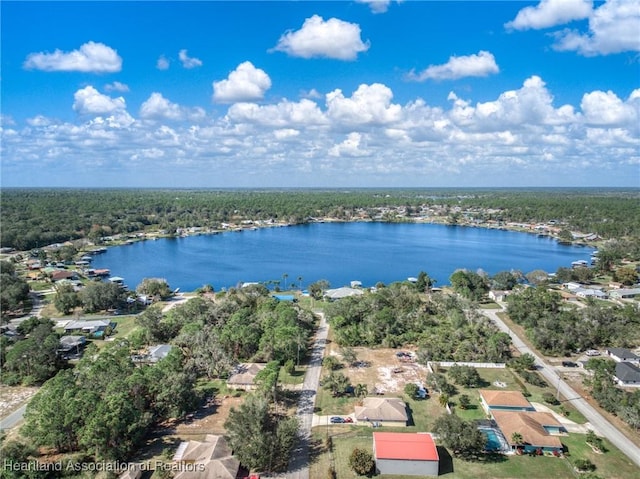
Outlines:
POLYGON ((219 228, 225 222, 317 217, 367 220, 379 208, 425 206, 445 222, 555 221, 602 238, 640 236, 640 191, 634 189, 21 189, 2 192, 2 247, 30 250, 68 240, 138 231, 219 228), (446 213, 450 211, 450 213, 446 213))

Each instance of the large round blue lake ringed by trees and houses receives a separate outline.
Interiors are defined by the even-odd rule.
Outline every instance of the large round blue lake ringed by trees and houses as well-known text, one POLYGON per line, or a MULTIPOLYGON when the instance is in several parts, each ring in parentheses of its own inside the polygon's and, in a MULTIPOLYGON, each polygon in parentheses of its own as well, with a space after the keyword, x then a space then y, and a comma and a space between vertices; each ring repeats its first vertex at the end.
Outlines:
POLYGON ((141 241, 109 248, 93 261, 131 289, 144 278, 172 288, 216 291, 242 282, 280 281, 284 289, 326 279, 331 287, 361 281, 373 286, 425 271, 436 286, 459 268, 488 274, 512 269, 553 273, 587 260, 593 248, 561 245, 535 234, 435 224, 314 223, 218 235, 141 241), (284 275, 287 278, 284 278, 284 275))

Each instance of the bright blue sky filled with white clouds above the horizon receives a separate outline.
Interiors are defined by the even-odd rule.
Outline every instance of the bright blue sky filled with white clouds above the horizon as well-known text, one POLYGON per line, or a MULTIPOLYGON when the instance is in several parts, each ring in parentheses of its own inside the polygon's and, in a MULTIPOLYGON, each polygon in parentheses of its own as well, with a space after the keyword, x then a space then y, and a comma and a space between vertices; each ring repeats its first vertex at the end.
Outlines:
POLYGON ((640 187, 640 0, 0 18, 3 187, 640 187))

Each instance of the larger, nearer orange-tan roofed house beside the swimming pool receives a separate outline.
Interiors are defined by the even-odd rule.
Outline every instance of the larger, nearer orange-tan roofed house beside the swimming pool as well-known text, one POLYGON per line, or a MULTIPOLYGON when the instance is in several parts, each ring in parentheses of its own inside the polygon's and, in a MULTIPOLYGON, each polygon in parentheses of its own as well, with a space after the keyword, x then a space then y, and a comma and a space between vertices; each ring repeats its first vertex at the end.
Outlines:
POLYGON ((566 430, 551 413, 522 411, 493 411, 493 419, 512 449, 523 452, 562 453, 558 436, 566 430), (513 442, 514 433, 520 434, 521 443, 513 442))

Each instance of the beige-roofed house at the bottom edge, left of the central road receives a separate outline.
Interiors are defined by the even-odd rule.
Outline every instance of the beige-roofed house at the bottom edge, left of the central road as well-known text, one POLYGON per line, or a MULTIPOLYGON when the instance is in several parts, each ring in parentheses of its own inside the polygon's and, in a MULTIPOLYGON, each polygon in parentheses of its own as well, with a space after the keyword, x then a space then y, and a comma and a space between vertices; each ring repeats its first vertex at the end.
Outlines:
POLYGON ((224 436, 214 434, 180 443, 173 461, 175 479, 236 479, 240 469, 224 436))

